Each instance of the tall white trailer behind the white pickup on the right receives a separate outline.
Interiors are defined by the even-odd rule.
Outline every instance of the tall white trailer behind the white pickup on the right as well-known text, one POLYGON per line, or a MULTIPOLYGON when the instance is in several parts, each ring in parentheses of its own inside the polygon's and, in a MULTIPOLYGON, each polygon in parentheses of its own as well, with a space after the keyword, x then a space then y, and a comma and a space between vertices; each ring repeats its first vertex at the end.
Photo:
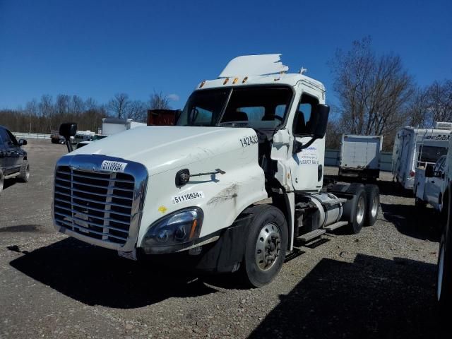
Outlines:
POLYGON ((393 177, 405 189, 415 186, 417 167, 434 165, 448 150, 452 123, 437 122, 434 129, 404 127, 393 147, 393 177), (438 129, 437 127, 441 127, 438 129))

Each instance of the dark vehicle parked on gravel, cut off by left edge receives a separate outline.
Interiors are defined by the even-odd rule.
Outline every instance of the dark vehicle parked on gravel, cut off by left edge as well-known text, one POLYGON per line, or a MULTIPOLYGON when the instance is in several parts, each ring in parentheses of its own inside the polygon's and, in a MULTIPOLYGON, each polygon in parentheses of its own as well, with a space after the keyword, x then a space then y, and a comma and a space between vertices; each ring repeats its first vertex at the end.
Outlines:
POLYGON ((3 191, 4 179, 16 177, 21 182, 28 182, 30 165, 27 153, 21 148, 26 144, 26 140, 17 141, 13 133, 0 126, 0 193, 3 191))

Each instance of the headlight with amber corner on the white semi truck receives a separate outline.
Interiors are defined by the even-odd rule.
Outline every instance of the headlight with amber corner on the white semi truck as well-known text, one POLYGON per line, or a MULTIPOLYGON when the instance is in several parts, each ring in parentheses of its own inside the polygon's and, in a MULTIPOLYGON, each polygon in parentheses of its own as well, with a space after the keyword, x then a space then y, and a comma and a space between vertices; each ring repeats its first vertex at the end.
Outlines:
POLYGON ((150 225, 143 245, 168 246, 191 242, 199 237, 203 217, 203 211, 197 207, 171 213, 150 225))

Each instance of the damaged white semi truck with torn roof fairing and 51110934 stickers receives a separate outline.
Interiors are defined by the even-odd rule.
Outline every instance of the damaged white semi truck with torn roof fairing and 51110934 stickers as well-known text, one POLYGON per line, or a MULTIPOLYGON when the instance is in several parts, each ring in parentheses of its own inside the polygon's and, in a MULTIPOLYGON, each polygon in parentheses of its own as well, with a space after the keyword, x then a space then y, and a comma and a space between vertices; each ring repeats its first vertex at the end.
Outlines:
POLYGON ((280 54, 237 57, 198 84, 177 126, 138 127, 61 157, 56 229, 128 258, 241 270, 258 287, 295 240, 373 225, 377 186, 323 189, 325 88, 286 71, 280 54))

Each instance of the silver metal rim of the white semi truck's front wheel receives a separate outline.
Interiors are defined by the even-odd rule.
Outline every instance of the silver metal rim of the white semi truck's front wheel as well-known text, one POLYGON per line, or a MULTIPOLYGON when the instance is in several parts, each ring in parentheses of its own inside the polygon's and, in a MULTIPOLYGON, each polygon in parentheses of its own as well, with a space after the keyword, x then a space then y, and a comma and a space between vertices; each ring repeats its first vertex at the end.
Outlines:
POLYGON ((260 270, 270 270, 280 254, 281 234, 277 225, 269 223, 261 228, 254 251, 256 265, 260 270))

